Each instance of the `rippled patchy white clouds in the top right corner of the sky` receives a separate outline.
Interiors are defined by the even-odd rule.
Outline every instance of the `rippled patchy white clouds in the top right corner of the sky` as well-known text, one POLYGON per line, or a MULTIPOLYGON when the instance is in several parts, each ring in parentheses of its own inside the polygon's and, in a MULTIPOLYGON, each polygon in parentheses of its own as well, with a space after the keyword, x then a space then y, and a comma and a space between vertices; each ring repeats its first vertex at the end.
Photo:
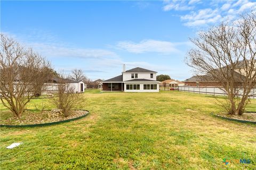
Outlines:
POLYGON ((206 5, 209 1, 170 1, 165 3, 163 11, 189 11, 187 14, 181 14, 180 19, 188 27, 205 27, 214 23, 236 19, 239 14, 244 12, 256 11, 255 1, 214 1, 209 7, 206 5), (198 3, 203 5, 197 6, 198 3), (207 6, 205 8, 205 6, 207 6), (191 10, 193 9, 193 10, 191 10))

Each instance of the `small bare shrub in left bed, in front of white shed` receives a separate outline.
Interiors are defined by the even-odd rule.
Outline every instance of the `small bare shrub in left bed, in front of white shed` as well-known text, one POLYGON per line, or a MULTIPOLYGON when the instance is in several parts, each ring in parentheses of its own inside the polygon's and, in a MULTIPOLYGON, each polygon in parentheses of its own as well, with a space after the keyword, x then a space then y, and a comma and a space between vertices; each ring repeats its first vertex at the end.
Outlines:
POLYGON ((60 76, 58 83, 56 97, 51 98, 50 102, 58 109, 61 109, 64 117, 68 117, 72 109, 83 103, 84 98, 82 94, 75 93, 75 87, 67 83, 67 79, 63 75, 60 76))

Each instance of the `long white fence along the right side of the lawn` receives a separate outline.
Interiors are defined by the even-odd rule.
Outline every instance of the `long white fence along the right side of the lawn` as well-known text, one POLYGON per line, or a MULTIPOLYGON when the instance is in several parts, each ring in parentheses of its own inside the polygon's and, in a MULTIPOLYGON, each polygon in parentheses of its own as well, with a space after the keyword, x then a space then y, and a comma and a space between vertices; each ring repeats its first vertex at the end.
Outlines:
MULTIPOLYGON (((226 95, 223 88, 218 87, 197 87, 197 86, 179 86, 179 91, 187 91, 187 92, 194 92, 197 94, 207 94, 207 95, 226 95)), ((239 92, 239 95, 242 96, 242 92, 239 92)), ((253 88, 251 91, 250 98, 256 99, 256 88, 253 88)))

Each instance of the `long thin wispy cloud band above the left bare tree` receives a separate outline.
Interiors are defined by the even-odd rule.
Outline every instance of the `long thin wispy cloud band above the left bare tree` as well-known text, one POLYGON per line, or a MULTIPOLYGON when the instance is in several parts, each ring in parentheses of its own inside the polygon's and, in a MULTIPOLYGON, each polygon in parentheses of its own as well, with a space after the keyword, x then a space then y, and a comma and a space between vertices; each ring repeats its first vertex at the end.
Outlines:
POLYGON ((47 57, 79 57, 79 58, 101 58, 117 57, 117 54, 110 50, 101 48, 78 48, 70 44, 58 41, 50 32, 36 30, 30 35, 13 35, 10 32, 3 32, 9 37, 18 40, 26 47, 33 48, 42 56, 47 57))

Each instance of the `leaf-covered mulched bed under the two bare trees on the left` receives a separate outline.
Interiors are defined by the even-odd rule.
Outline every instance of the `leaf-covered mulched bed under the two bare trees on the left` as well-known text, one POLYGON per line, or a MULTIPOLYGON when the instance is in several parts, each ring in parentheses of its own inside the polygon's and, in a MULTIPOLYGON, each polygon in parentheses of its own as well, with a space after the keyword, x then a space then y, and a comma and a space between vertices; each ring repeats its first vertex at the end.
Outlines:
MULTIPOLYGON (((36 111, 26 111, 22 117, 17 118, 9 112, 10 117, 1 120, 1 125, 31 125, 31 124, 43 124, 43 123, 52 123, 52 122, 59 122, 65 121, 76 117, 81 117, 87 113, 88 111, 84 110, 76 110, 72 111, 68 117, 64 117, 59 115, 58 117, 50 116, 52 111, 43 111, 43 112, 36 112, 36 111)), ((5 113, 7 114, 7 113, 5 113)))

